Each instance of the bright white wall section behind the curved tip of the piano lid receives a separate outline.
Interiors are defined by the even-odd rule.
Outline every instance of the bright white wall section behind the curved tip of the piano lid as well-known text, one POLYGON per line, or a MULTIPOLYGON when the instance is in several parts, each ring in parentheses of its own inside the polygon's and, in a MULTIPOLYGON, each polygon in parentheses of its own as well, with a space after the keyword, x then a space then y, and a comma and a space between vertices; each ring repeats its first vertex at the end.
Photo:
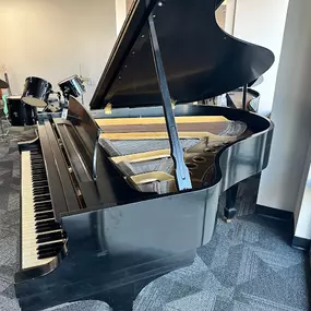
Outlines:
POLYGON ((261 93, 263 115, 272 110, 287 8, 288 0, 237 0, 236 4, 234 36, 266 47, 275 55, 274 65, 255 87, 261 93))

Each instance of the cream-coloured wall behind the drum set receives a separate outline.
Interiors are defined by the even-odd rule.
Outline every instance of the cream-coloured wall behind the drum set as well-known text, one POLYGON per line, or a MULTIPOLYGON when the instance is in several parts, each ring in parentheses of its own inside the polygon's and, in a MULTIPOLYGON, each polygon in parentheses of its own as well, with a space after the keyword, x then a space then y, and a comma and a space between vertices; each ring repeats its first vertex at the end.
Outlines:
MULTIPOLYGON (((0 0, 0 67, 12 92, 25 77, 57 83, 72 74, 92 76, 89 103, 116 40, 115 0, 0 0)), ((0 76, 2 73, 0 72, 0 76)))

